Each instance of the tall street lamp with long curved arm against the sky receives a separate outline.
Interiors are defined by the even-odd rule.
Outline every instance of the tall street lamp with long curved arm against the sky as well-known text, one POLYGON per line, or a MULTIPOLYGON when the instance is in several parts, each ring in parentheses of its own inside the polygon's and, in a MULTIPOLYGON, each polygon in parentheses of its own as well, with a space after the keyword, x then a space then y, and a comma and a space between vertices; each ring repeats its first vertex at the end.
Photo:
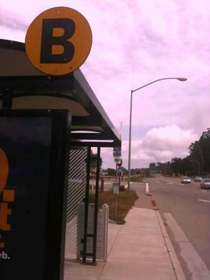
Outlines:
POLYGON ((138 87, 136 90, 131 90, 131 95, 130 95, 130 129, 129 129, 129 150, 128 150, 128 182, 127 182, 127 190, 130 190, 130 158, 131 158, 131 133, 132 133, 132 97, 133 97, 133 92, 137 92, 137 90, 141 90, 143 87, 147 87, 148 85, 151 85, 152 83, 156 83, 159 80, 180 80, 181 82, 185 82, 188 80, 187 78, 161 78, 158 80, 153 80, 153 82, 148 83, 146 85, 143 85, 142 87, 138 87))

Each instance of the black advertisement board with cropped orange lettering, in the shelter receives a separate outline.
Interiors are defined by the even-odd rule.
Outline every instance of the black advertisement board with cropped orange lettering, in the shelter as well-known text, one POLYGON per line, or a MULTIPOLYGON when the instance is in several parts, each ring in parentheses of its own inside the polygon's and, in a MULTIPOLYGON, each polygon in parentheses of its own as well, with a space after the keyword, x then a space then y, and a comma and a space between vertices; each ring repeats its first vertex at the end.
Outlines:
POLYGON ((1 110, 0 279, 62 280, 66 110, 1 110))

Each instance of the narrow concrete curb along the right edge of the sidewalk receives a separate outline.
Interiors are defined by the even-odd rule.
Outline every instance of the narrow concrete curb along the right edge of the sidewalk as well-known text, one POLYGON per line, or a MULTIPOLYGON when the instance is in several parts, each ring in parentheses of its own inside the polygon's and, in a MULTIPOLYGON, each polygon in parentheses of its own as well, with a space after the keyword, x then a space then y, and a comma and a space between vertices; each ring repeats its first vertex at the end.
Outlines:
POLYGON ((162 231, 162 237, 165 240, 165 246, 167 247, 167 252, 169 253, 169 258, 172 262, 172 267, 174 269, 174 273, 176 274, 176 279, 186 280, 186 276, 183 273, 183 269, 181 267, 179 259, 176 255, 176 252, 174 251, 174 246, 172 245, 172 241, 169 238, 169 235, 167 233, 165 225, 162 221, 162 217, 160 216, 160 212, 155 211, 155 214, 156 214, 156 216, 158 218, 158 222, 160 224, 160 228, 161 228, 161 231, 162 231))

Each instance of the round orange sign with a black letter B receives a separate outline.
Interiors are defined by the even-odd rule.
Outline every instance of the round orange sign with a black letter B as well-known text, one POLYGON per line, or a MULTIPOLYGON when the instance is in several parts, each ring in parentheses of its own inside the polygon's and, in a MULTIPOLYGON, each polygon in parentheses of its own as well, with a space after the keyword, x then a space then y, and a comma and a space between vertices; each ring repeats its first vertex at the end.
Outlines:
POLYGON ((30 62, 49 75, 65 75, 85 62, 92 46, 92 31, 78 11, 50 8, 27 30, 25 48, 30 62))

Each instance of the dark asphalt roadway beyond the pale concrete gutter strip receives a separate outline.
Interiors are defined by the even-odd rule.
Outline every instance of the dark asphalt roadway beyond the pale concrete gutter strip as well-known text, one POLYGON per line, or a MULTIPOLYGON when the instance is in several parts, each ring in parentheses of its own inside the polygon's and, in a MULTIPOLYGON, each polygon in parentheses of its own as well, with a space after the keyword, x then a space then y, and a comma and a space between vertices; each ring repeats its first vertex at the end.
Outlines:
MULTIPOLYGON (((163 176, 145 181, 149 183, 150 193, 158 204, 163 221, 164 214, 172 214, 210 270, 210 190, 202 190, 199 182, 181 184, 180 179, 163 176)), ((169 228, 167 230, 179 251, 174 232, 169 228)))

